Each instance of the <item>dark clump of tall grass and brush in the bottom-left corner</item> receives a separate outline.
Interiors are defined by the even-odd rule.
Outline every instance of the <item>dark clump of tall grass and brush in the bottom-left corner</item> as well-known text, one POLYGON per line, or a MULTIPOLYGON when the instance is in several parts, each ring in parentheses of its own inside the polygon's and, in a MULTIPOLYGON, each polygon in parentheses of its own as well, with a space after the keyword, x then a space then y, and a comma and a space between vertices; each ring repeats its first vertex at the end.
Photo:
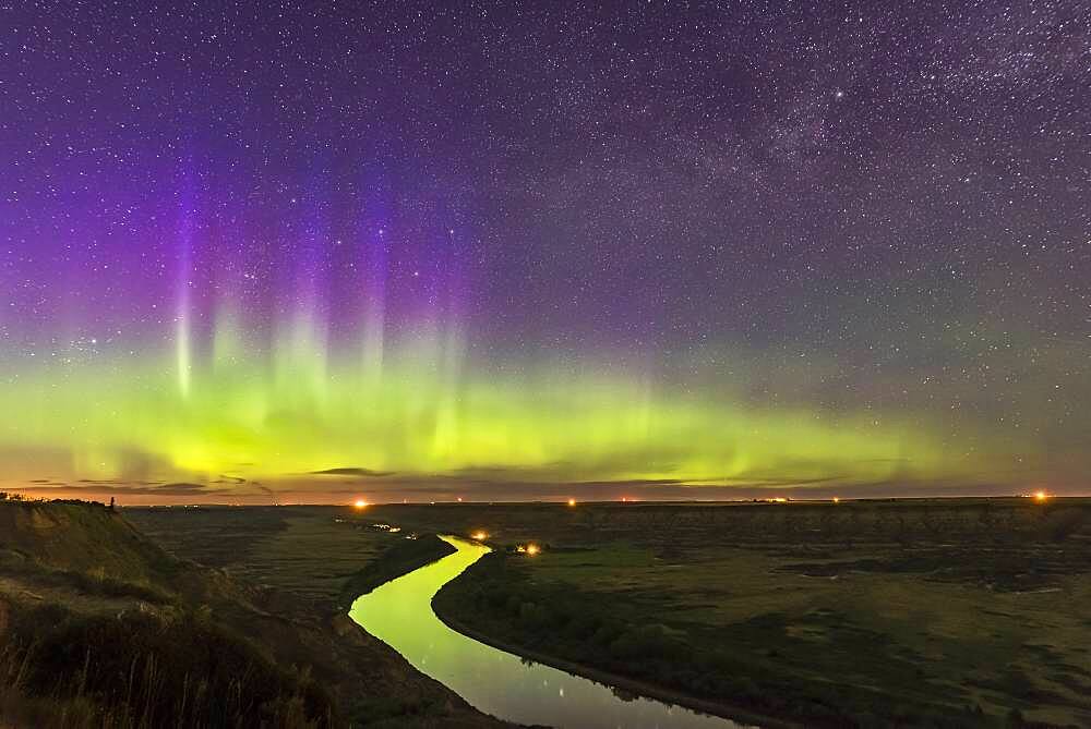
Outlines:
POLYGON ((207 613, 17 613, 0 671, 7 710, 34 726, 327 727, 305 671, 274 666, 207 613), (19 698, 15 697, 19 693, 19 698))

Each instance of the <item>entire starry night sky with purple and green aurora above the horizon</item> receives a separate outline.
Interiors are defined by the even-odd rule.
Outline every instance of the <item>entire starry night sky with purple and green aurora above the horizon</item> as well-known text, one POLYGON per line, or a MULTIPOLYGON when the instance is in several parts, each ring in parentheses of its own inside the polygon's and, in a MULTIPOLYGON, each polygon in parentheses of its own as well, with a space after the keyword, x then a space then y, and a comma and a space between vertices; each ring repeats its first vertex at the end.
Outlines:
POLYGON ((1089 493, 1089 96, 1076 0, 0 2, 0 483, 1089 493))

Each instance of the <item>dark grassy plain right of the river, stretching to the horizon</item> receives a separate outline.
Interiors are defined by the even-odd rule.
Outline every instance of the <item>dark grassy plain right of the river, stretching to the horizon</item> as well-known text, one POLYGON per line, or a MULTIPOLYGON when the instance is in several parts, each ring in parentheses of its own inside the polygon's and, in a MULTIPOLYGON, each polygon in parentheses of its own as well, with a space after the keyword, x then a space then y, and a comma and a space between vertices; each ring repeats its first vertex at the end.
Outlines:
POLYGON ((487 530, 436 608, 501 643, 828 726, 1091 726, 1091 506, 433 507, 487 530))

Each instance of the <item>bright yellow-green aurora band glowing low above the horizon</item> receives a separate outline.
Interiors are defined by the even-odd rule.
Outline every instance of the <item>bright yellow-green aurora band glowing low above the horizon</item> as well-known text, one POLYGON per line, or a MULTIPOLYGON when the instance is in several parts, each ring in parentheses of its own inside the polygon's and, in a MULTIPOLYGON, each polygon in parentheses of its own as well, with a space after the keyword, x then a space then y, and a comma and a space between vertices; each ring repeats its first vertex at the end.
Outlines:
POLYGON ((480 365, 453 326, 335 351, 304 313, 261 348, 221 313, 203 356, 187 329, 155 355, 60 353, 0 385, 19 414, 0 426, 7 478, 205 483, 351 466, 694 486, 1026 481, 1011 475, 1010 442, 978 435, 968 449, 942 437, 939 418, 755 404, 601 360, 480 365))

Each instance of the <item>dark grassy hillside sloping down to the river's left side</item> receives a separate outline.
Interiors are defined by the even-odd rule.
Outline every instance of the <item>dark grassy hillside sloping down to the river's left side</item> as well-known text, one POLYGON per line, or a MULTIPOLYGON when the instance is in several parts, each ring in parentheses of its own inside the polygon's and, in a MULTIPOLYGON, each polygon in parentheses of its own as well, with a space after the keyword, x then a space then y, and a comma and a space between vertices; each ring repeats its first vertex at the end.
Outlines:
POLYGON ((87 502, 0 501, 0 727, 493 727, 347 616, 87 502))

